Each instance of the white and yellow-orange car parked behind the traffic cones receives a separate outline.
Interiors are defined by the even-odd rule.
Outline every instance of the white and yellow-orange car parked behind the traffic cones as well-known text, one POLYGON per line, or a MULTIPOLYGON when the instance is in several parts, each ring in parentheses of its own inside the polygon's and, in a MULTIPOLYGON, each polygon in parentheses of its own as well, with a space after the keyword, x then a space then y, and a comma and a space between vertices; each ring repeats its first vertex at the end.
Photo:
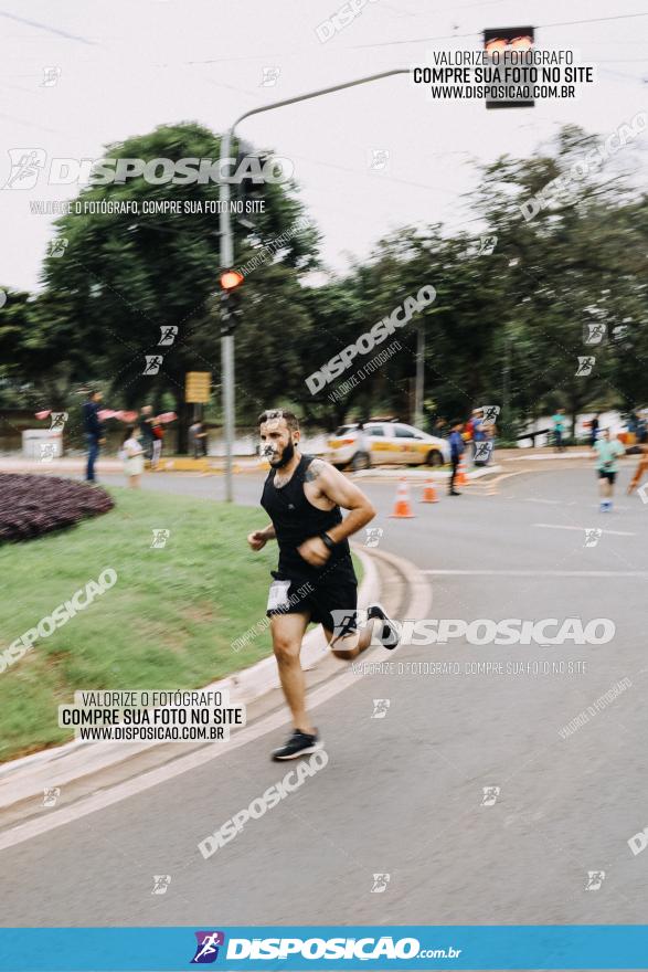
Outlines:
POLYGON ((326 458, 338 468, 353 469, 389 464, 440 466, 449 463, 450 448, 445 439, 403 422, 365 422, 362 432, 355 423, 341 425, 328 441, 326 458))

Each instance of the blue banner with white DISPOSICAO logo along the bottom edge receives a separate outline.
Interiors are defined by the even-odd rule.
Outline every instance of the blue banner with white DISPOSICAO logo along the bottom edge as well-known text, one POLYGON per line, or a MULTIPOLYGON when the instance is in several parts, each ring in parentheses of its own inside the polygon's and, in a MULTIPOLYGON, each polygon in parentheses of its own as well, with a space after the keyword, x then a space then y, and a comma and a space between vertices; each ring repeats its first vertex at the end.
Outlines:
POLYGON ((648 926, 0 929, 2 972, 648 969, 648 926))

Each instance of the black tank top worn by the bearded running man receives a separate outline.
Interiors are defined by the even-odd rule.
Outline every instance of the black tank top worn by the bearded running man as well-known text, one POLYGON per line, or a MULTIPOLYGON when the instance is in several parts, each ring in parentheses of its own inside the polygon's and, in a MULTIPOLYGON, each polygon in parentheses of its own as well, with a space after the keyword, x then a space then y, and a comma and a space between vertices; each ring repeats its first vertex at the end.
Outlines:
POLYGON ((305 540, 317 537, 342 521, 339 506, 333 506, 332 509, 318 509, 306 497, 304 482, 306 471, 314 458, 315 456, 302 455, 293 476, 280 488, 275 486, 276 469, 270 469, 264 483, 261 505, 273 521, 277 535, 277 543, 279 545, 278 573, 286 574, 290 579, 308 578, 329 570, 332 564, 336 564, 336 574, 339 574, 339 568, 341 571, 347 572, 348 570, 354 575, 348 540, 336 545, 325 567, 321 568, 307 563, 297 552, 297 548, 305 540))

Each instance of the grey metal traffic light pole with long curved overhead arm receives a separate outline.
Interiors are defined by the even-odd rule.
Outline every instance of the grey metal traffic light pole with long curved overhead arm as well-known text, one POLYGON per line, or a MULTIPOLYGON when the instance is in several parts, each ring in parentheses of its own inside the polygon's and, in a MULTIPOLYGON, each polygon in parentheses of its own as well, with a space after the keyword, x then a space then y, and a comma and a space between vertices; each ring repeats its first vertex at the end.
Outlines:
MULTIPOLYGON (((262 112, 272 112, 275 108, 283 108, 286 105, 295 105, 297 102, 307 102, 310 98, 319 98, 322 95, 329 95, 337 91, 344 91, 348 87, 355 87, 359 84, 369 84, 372 81, 380 81, 383 77, 391 77, 394 74, 410 74, 408 67, 400 67, 395 71, 383 71, 380 74, 369 74, 367 77, 358 77, 355 81, 347 81, 342 84, 336 84, 332 87, 322 87, 318 91, 307 92, 297 95, 294 98, 285 98, 281 102, 272 102, 269 105, 262 105, 259 108, 252 108, 240 115, 231 128, 224 133, 221 138, 221 169, 225 159, 231 158, 232 142, 234 139, 234 130, 236 126, 245 118, 252 115, 261 115, 262 112)), ((220 231, 221 231, 221 268, 227 270, 234 265, 234 234, 232 233, 232 220, 230 218, 230 182, 221 181, 221 212, 220 212, 220 231)), ((223 376, 223 424, 225 432, 225 499, 232 503, 234 499, 234 477, 233 477, 233 447, 234 447, 234 335, 223 335, 221 338, 221 366, 223 376)))

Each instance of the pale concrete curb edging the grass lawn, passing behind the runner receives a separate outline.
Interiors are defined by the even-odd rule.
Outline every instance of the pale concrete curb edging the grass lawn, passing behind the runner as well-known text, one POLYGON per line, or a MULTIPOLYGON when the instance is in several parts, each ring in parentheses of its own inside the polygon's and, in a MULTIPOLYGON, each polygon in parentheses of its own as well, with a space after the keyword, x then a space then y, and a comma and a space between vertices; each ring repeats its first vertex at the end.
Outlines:
MULTIPOLYGON (((379 554, 353 545, 353 552, 360 558, 364 571, 358 592, 359 605, 367 606, 380 595, 380 579, 374 562, 391 554, 379 554)), ((394 558, 394 561, 397 558, 394 558)), ((401 568, 402 569, 402 568, 401 568)), ((328 656, 327 642, 321 626, 308 632, 302 642, 302 667, 312 668, 328 656)), ((229 691, 234 705, 249 705, 266 693, 279 686, 279 675, 274 655, 262 658, 248 668, 212 682, 204 691, 229 691)), ((73 740, 63 746, 44 749, 31 756, 21 757, 0 765, 0 811, 24 800, 43 794, 45 788, 63 786, 67 783, 130 760, 140 753, 163 746, 149 743, 100 743, 73 740)))

